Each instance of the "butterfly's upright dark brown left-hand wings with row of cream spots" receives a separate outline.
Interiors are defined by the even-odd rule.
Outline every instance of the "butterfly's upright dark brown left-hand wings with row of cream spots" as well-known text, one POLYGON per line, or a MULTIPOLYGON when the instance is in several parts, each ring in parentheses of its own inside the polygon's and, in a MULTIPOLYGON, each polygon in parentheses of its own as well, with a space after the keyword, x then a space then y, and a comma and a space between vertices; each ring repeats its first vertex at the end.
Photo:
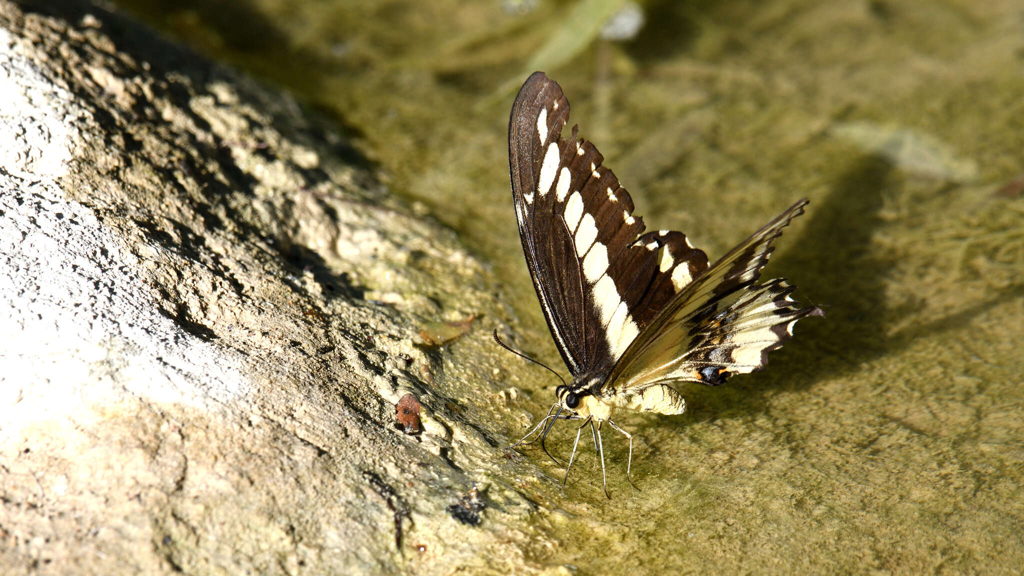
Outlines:
POLYGON ((573 377, 603 377, 645 326, 707 266, 678 232, 644 234, 633 200, 589 141, 561 137, 569 106, 543 73, 509 122, 512 196, 552 336, 573 377))

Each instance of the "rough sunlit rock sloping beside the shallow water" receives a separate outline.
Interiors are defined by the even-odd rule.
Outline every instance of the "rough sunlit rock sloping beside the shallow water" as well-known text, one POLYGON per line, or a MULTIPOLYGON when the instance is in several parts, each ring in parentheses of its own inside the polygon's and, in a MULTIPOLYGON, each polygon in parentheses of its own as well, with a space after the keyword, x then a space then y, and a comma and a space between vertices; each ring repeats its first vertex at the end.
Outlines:
POLYGON ((0 94, 4 574, 543 570, 511 313, 343 133, 85 2, 0 1, 0 94))

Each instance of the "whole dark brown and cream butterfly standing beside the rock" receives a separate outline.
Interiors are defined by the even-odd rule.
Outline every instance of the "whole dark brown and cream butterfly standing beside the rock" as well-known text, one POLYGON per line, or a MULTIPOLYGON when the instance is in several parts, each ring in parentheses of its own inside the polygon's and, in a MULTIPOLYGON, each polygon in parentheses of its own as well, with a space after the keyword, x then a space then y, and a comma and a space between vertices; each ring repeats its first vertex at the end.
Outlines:
POLYGON ((633 437, 615 424, 615 414, 681 414, 686 403, 671 384, 717 386, 732 374, 760 370, 768 353, 793 336, 798 320, 824 314, 800 307, 790 296, 796 287, 784 279, 758 283, 772 241, 804 213, 806 199, 709 263, 684 234, 645 232, 594 145, 578 137, 578 126, 571 137, 561 136, 568 116, 561 87, 537 72, 509 119, 519 237, 551 336, 572 376, 555 389, 548 415, 513 448, 535 433, 530 443, 540 439, 543 447, 557 420, 583 420, 565 480, 589 424, 607 495, 605 422, 629 439, 626 474, 633 484, 633 437))

